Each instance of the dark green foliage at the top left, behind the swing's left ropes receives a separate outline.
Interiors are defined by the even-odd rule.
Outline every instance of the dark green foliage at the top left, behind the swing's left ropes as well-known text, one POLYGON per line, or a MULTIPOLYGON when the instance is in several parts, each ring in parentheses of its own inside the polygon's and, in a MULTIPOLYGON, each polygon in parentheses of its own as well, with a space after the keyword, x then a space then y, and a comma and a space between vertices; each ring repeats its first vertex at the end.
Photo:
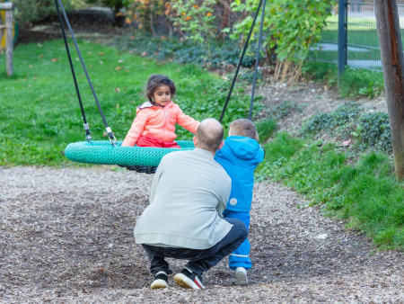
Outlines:
MULTIPOLYGON (((40 22, 57 14, 54 0, 13 0, 16 6, 16 17, 20 25, 40 22)), ((72 0, 63 1, 66 11, 72 8, 72 0)))

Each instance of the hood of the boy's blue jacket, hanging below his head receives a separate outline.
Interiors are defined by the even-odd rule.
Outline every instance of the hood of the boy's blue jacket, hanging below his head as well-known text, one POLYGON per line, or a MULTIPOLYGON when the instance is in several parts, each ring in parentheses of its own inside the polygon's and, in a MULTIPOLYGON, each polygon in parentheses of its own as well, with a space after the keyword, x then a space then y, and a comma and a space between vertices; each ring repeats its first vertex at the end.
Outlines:
POLYGON ((262 155, 259 153, 261 147, 255 139, 244 136, 229 136, 224 141, 224 146, 230 148, 235 156, 242 159, 262 158, 262 155))

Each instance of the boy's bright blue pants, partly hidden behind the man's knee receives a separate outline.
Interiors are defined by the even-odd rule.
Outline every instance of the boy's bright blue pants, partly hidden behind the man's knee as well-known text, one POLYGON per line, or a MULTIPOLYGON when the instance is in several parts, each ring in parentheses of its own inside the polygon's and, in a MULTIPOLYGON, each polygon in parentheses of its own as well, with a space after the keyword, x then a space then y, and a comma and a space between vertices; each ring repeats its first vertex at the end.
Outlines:
MULTIPOLYGON (((247 227, 247 231, 250 227, 250 213, 249 212, 239 212, 232 210, 224 210, 224 219, 240 219, 247 227)), ((242 245, 233 251, 229 255, 229 267, 230 269, 236 269, 236 267, 244 267, 245 269, 250 269, 252 267, 250 260, 250 242, 248 238, 242 242, 242 245)))

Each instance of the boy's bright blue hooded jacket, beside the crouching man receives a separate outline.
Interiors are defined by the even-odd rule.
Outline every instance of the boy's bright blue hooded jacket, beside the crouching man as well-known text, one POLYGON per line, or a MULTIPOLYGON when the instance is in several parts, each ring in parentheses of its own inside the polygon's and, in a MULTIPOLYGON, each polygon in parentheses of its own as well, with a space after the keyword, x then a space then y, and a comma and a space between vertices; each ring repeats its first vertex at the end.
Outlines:
POLYGON ((216 151, 215 161, 232 178, 232 192, 226 210, 249 212, 254 185, 254 170, 264 159, 264 150, 255 139, 229 136, 216 151))

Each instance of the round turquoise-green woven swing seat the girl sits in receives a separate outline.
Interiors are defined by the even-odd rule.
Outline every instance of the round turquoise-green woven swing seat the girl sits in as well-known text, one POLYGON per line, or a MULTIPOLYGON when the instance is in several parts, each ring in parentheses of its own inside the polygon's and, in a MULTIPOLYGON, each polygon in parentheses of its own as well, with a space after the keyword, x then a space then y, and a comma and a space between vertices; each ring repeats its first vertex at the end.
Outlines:
POLYGON ((168 153, 194 149, 192 140, 178 140, 180 148, 121 147, 121 144, 122 141, 116 146, 108 140, 79 141, 69 144, 65 155, 86 164, 157 166, 168 153))

